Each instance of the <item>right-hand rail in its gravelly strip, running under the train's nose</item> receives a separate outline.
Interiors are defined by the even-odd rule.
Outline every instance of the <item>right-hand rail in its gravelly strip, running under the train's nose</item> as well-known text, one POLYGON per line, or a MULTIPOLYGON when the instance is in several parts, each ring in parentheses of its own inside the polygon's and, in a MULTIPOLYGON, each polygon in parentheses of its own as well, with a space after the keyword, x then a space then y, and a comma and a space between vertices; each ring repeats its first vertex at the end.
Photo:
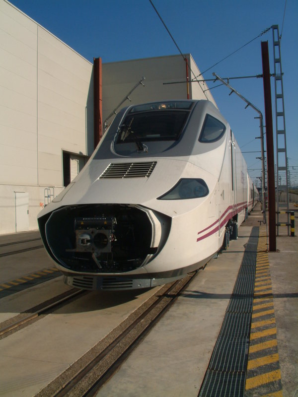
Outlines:
POLYGON ((162 286, 35 397, 94 396, 170 308, 197 272, 162 286))

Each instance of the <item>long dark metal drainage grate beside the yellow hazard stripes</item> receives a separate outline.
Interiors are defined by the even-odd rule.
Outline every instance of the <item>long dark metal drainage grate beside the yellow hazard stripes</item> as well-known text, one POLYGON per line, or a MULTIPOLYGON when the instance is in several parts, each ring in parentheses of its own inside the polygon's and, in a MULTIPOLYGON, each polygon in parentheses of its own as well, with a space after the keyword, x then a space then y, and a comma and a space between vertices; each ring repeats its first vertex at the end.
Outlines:
POLYGON ((244 396, 258 239, 253 227, 199 397, 244 396))

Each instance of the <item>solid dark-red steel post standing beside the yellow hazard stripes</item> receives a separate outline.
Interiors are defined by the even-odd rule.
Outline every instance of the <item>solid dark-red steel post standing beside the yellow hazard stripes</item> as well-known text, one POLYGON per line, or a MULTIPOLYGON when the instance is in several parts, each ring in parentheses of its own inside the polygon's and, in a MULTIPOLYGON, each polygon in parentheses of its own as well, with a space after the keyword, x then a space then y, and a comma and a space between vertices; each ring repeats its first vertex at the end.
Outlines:
POLYGON ((264 84, 264 101, 265 101, 265 123, 266 123, 266 145, 267 145, 269 251, 276 251, 274 145, 273 145, 272 102, 271 102, 268 41, 261 42, 261 49, 262 49, 263 84, 264 84))

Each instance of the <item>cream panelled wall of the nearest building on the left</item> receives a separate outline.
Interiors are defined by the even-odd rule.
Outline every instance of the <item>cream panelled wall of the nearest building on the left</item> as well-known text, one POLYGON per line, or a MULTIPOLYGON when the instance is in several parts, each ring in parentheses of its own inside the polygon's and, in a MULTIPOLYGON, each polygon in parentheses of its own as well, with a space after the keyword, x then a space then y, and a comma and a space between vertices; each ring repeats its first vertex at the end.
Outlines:
POLYGON ((29 193, 29 229, 37 228, 44 188, 63 189, 62 150, 92 153, 92 69, 0 0, 0 233, 15 231, 15 191, 29 193))

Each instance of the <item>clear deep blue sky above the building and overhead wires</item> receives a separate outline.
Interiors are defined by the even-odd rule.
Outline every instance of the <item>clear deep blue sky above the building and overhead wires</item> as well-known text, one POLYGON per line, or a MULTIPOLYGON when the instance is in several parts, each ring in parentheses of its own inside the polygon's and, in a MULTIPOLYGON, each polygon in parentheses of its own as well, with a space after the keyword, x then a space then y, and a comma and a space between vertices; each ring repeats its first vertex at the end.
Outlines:
MULTIPOLYGON (((297 0, 152 0, 183 53, 191 53, 203 72, 257 37, 279 25, 292 184, 298 185, 298 1, 297 0), (286 5, 286 7, 285 7, 286 5), (286 10, 286 11, 285 11, 286 10), (285 11, 285 17, 284 17, 285 11), (292 167, 296 167, 292 169, 292 167)), ((11 0, 90 62, 179 54, 149 0, 11 0)), ((273 73, 272 30, 204 73, 221 77, 262 73, 261 41, 268 41, 273 73)), ((261 78, 230 80, 230 84, 264 113, 261 78)), ((243 151, 260 150, 258 116, 225 86, 209 88, 243 151)), ((271 87, 274 80, 271 79, 271 87)), ((274 93, 272 95, 274 112, 274 93)), ((275 130, 275 116, 273 114, 275 130)), ((275 139, 275 138, 274 138, 275 139)), ((250 175, 261 175, 259 153, 245 153, 250 175)))

